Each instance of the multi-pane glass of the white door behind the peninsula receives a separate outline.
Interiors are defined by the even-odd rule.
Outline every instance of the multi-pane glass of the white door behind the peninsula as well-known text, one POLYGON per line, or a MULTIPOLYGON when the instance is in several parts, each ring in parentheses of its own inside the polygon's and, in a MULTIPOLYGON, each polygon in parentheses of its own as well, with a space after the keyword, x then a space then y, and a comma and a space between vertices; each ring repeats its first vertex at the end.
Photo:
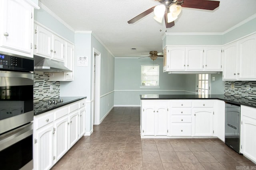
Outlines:
POLYGON ((211 74, 198 74, 197 75, 197 90, 199 95, 208 95, 210 94, 210 79, 211 74))

